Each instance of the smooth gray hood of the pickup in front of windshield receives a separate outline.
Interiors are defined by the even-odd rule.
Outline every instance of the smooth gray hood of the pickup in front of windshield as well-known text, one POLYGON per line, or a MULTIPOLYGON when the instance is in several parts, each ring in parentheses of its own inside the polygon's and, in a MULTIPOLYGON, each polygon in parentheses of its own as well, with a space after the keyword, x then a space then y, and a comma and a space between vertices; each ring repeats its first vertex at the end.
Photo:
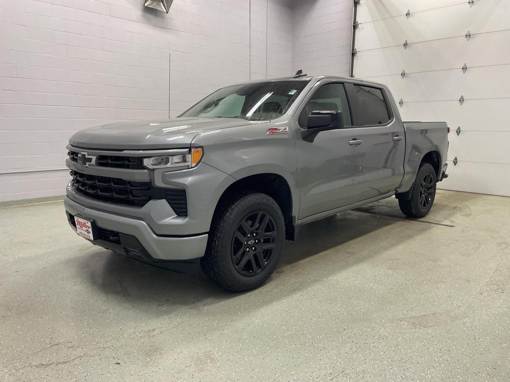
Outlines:
POLYGON ((72 135, 69 143, 89 149, 153 150, 189 147, 197 134, 247 125, 238 118, 184 117, 160 121, 133 121, 90 127, 72 135))

